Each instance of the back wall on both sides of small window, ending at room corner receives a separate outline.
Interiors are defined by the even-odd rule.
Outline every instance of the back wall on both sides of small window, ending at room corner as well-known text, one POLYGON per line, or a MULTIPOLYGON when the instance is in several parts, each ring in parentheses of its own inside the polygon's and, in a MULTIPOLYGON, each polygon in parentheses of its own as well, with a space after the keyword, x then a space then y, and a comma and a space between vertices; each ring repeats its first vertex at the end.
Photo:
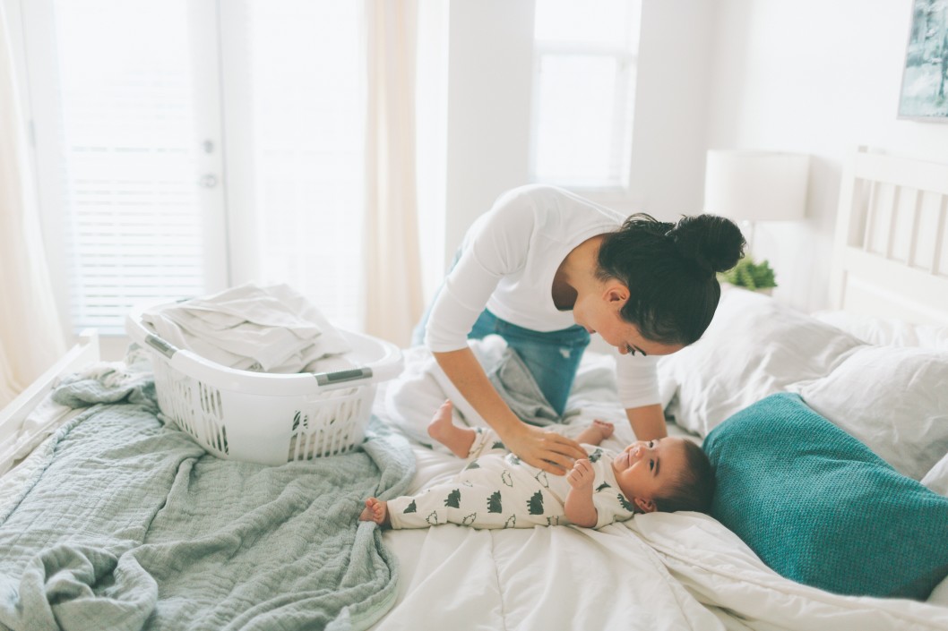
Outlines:
MULTIPOLYGON (((528 182, 533 7, 449 3, 446 261, 501 192, 528 182)), ((631 191, 604 203, 662 219, 701 210, 702 189, 683 184, 704 169, 713 15, 707 0, 644 3, 631 191)))

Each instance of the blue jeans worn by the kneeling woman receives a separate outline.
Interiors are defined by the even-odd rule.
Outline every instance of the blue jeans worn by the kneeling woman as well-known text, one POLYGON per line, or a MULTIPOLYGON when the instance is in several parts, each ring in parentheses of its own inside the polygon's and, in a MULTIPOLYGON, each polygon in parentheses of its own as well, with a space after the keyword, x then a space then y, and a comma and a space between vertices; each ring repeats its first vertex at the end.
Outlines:
MULTIPOLYGON (((427 323, 428 313, 415 327, 412 344, 424 342, 427 323)), ((573 388, 576 370, 579 369, 579 360, 590 343, 590 334, 586 329, 575 324, 568 329, 541 333, 501 320, 484 309, 467 338, 482 339, 490 334, 500 335, 507 346, 520 355, 543 396, 562 416, 570 389, 573 388)))

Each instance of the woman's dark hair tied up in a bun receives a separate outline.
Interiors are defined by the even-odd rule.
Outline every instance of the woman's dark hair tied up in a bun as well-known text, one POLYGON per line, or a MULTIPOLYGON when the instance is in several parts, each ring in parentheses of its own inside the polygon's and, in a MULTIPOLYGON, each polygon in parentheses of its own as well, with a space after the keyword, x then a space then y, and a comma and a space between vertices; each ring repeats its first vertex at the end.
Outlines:
POLYGON ((717 273, 734 267, 745 245, 740 228, 724 217, 671 224, 639 213, 606 235, 597 276, 629 287, 622 317, 646 339, 686 346, 702 336, 718 308, 717 273))

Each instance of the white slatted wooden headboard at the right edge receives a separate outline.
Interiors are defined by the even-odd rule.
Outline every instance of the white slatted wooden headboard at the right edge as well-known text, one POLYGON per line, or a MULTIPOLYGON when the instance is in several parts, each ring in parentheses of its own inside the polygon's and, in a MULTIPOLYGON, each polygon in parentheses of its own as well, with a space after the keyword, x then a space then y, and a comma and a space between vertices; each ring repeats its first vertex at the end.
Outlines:
POLYGON ((948 326, 948 165, 860 148, 840 189, 830 300, 948 326))

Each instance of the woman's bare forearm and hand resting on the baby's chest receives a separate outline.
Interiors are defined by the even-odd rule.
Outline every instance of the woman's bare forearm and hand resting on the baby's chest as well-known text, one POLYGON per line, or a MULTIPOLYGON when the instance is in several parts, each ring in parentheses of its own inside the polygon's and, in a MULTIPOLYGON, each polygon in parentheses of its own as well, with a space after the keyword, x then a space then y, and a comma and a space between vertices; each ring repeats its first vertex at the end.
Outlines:
POLYGON ((520 421, 490 383, 470 348, 433 354, 467 403, 477 410, 500 435, 504 446, 520 460, 562 476, 573 468, 574 460, 586 458, 586 452, 577 442, 520 421))

